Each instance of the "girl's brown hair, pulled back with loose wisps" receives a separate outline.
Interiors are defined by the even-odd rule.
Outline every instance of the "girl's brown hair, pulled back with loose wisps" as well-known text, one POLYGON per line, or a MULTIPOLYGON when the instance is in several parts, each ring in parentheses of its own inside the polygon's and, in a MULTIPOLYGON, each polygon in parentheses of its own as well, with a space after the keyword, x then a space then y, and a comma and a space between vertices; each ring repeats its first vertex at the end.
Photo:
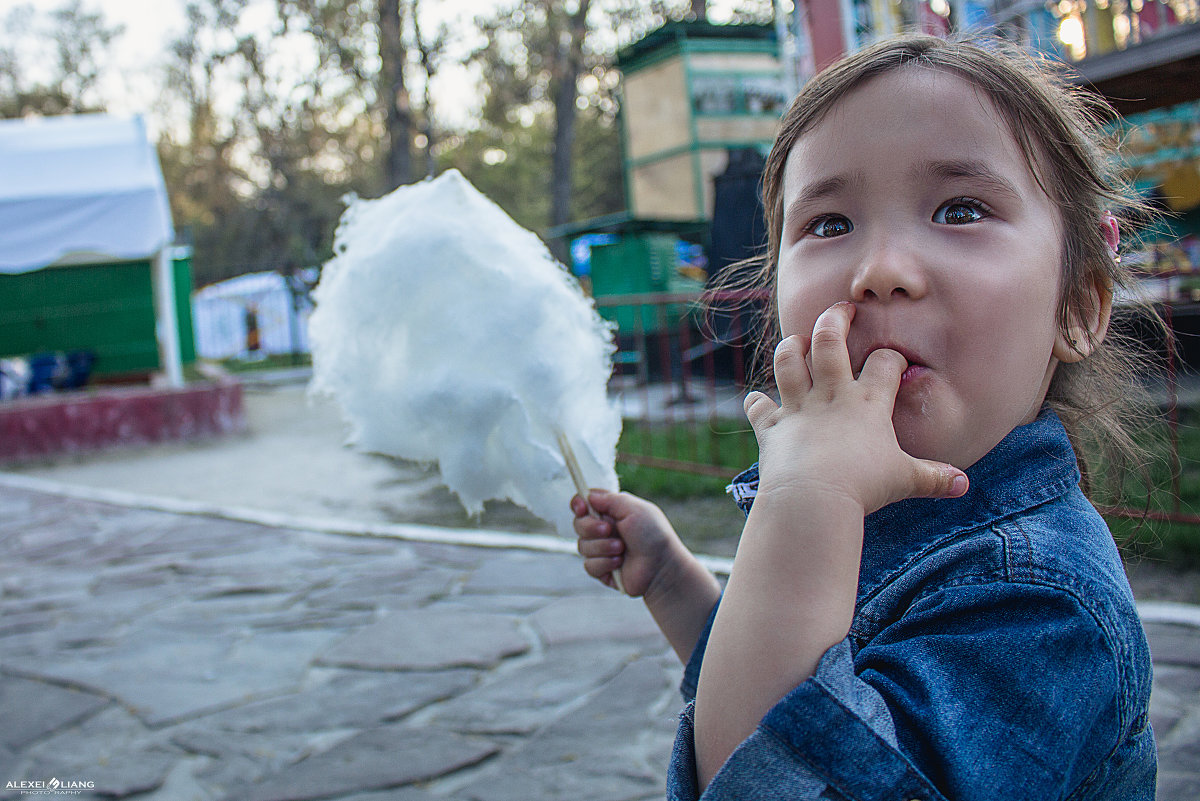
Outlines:
MULTIPOLYGON (((1145 204, 1117 173, 1111 138, 1103 125, 1116 113, 1092 92, 1068 82, 1066 68, 1003 40, 943 40, 902 35, 884 40, 834 64, 812 78, 784 116, 762 179, 767 223, 766 254, 731 265, 721 289, 768 289, 768 308, 758 344, 760 377, 769 379, 770 354, 779 339, 775 276, 784 225, 784 169, 796 141, 841 98, 874 77, 919 66, 954 74, 991 101, 1025 156, 1030 171, 1062 215, 1062 277, 1058 325, 1067 331, 1072 313, 1090 311, 1096 281, 1112 290, 1129 288, 1130 270, 1110 252, 1102 221, 1109 210, 1127 228, 1146 215, 1145 204), (748 273, 748 266, 751 266, 748 273)), ((1157 326, 1157 312, 1146 308, 1157 326)), ((1088 335, 1091 338, 1091 335, 1088 335)), ((1146 420, 1133 392, 1145 359, 1130 337, 1110 331, 1103 343, 1088 342, 1091 355, 1061 363, 1046 402, 1062 417, 1075 446, 1085 489, 1097 468, 1109 477, 1141 460, 1133 429, 1146 420)), ((1120 482, 1120 478, 1115 478, 1120 482)))

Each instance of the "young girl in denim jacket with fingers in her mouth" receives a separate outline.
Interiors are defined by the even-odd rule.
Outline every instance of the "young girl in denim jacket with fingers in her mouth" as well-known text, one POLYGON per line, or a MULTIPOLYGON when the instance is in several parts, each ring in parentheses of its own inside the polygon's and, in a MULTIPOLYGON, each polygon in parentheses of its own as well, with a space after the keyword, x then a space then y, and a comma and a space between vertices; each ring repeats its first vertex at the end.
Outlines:
POLYGON ((572 500, 588 573, 620 567, 686 663, 670 797, 1153 797, 1150 654, 1072 446, 1112 426, 1124 283, 1094 133, 990 41, 887 41, 792 104, 779 403, 745 401, 724 595, 652 504, 572 500))

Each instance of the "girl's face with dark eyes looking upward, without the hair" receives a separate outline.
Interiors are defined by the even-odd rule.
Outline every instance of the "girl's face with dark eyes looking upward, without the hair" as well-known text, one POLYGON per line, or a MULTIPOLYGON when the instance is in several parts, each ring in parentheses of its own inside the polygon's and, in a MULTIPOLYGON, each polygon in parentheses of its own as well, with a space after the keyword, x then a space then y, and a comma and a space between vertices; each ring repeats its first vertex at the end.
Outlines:
POLYGON ((920 67, 864 83, 792 147, 784 210, 782 335, 852 301, 856 375, 878 348, 908 360, 892 416, 905 451, 965 469, 1037 416, 1062 224, 983 92, 920 67))

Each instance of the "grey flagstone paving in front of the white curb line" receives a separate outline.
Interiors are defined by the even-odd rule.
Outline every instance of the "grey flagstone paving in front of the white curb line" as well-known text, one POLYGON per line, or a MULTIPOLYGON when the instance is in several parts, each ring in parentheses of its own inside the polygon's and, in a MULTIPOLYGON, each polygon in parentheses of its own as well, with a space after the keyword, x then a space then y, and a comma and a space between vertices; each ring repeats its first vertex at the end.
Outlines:
MULTIPOLYGON (((1159 799, 1200 797, 1200 628, 1148 622, 1159 799)), ((0 484, 0 788, 154 801, 662 795, 679 666, 577 559, 0 484)), ((2 799, 66 797, 0 790, 2 799)))

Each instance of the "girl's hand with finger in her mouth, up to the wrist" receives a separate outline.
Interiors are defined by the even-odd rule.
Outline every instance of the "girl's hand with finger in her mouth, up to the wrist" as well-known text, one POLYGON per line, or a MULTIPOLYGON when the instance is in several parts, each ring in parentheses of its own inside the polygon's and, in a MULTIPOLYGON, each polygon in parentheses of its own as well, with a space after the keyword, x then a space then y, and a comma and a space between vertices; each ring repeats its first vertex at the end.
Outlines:
POLYGON ((864 514, 905 498, 958 498, 967 477, 949 464, 916 459, 896 442, 892 412, 908 363, 894 350, 871 353, 856 378, 846 338, 854 305, 826 309, 812 338, 775 349, 780 405, 761 392, 745 412, 758 439, 756 505, 775 494, 850 499, 864 514))

